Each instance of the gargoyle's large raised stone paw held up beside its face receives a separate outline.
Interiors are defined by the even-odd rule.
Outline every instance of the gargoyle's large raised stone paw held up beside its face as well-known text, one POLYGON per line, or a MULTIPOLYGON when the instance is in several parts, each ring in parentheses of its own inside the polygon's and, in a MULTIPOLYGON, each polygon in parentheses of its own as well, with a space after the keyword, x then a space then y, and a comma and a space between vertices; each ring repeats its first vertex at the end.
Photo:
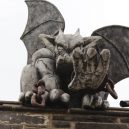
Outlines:
POLYGON ((95 48, 76 48, 73 51, 74 77, 69 84, 70 90, 97 90, 107 75, 110 51, 101 53, 95 48))

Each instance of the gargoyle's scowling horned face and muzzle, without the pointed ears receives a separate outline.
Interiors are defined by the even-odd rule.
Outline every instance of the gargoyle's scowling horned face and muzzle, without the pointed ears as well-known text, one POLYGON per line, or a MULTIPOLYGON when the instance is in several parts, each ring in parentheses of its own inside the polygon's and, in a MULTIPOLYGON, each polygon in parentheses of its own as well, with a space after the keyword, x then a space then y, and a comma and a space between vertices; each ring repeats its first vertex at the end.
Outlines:
POLYGON ((72 65, 72 53, 76 47, 81 47, 83 38, 79 30, 74 35, 64 34, 61 30, 55 38, 56 68, 72 65))

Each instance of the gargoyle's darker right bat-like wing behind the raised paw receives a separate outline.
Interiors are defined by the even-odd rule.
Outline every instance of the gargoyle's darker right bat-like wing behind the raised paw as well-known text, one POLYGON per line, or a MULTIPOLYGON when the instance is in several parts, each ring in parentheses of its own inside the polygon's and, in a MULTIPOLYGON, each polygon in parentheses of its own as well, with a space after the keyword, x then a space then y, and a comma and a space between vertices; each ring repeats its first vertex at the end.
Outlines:
POLYGON ((107 26, 92 33, 102 36, 97 45, 99 51, 107 48, 111 52, 109 78, 114 83, 129 77, 129 28, 124 26, 107 26))

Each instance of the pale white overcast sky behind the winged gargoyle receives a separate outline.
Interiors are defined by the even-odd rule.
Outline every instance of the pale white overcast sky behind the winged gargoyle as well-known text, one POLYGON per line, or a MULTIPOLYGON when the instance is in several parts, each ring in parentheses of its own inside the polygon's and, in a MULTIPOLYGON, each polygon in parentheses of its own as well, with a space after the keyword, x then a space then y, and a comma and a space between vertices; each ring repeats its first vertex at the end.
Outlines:
MULTIPOLYGON (((129 26, 129 0, 49 0, 62 13, 65 33, 80 28, 82 36, 107 25, 129 26)), ((27 52, 20 40, 28 17, 24 0, 0 1, 0 100, 17 100, 20 76, 27 62, 27 52)), ((129 100, 129 79, 116 85, 119 99, 109 96, 111 106, 129 100)))

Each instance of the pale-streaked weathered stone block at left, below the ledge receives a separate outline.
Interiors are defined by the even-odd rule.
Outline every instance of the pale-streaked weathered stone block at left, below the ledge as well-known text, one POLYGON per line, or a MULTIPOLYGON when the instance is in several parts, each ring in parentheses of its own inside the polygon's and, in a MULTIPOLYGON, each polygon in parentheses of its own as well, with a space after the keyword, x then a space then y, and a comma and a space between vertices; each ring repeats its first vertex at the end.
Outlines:
POLYGON ((24 113, 24 112, 3 112, 0 111, 2 117, 0 121, 7 124, 28 124, 28 125, 41 125, 47 127, 49 124, 48 114, 35 114, 35 113, 24 113))

